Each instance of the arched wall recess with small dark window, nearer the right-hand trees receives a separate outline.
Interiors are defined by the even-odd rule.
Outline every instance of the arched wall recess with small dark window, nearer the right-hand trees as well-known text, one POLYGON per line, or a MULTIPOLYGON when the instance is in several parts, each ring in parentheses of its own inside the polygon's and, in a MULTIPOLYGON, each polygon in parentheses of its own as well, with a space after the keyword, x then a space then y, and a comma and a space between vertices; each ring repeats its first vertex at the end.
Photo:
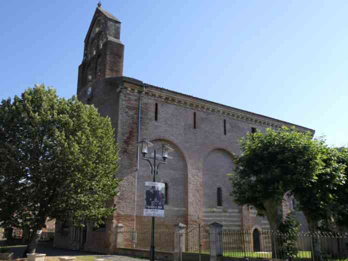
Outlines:
POLYGON ((231 191, 227 174, 233 171, 232 154, 222 148, 214 148, 203 159, 203 208, 215 208, 221 203, 223 208, 237 208, 229 195, 231 191), (221 197, 217 198, 218 191, 221 197), (220 202, 218 202, 220 201, 220 202))

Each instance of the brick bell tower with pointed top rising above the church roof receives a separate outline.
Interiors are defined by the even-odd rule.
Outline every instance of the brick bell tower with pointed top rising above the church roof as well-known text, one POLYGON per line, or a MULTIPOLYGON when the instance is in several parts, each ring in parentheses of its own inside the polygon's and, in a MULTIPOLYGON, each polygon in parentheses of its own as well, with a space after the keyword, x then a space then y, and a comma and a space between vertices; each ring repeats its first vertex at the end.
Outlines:
POLYGON ((119 40, 120 29, 121 22, 99 2, 84 38, 77 93, 95 79, 122 76, 124 45, 119 40))

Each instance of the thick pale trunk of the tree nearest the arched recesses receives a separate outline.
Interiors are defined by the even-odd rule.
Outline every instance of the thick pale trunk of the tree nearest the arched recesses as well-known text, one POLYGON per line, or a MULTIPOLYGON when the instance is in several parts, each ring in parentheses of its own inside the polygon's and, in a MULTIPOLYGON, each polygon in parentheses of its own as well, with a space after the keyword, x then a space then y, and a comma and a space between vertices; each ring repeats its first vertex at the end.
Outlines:
POLYGON ((265 215, 268 219, 271 233, 271 244, 272 244, 272 258, 279 258, 279 247, 280 240, 276 232, 279 230, 279 226, 282 220, 282 213, 280 211, 280 205, 275 204, 273 199, 263 201, 265 215))

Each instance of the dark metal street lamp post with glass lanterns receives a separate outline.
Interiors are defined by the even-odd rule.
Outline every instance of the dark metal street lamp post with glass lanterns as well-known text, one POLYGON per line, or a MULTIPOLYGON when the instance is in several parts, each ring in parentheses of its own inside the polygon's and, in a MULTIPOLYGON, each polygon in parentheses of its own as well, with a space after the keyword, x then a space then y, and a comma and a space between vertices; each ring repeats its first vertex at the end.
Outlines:
MULTIPOLYGON (((153 146, 151 142, 149 142, 148 139, 142 139, 139 143, 141 146, 141 159, 146 160, 150 166, 151 166, 151 174, 152 174, 152 182, 156 182, 156 175, 158 174, 158 167, 160 164, 166 164, 167 158, 168 158, 168 151, 171 150, 171 148, 167 144, 162 144, 160 146, 160 152, 161 157, 157 157, 156 154, 156 148, 153 148, 153 154, 151 153, 150 156, 147 156, 148 147, 153 146), (153 160, 153 163, 151 163, 151 160, 153 160), (158 163, 156 161, 159 161, 158 163)), ((150 261, 154 261, 154 216, 152 216, 151 220, 151 258, 150 261)))

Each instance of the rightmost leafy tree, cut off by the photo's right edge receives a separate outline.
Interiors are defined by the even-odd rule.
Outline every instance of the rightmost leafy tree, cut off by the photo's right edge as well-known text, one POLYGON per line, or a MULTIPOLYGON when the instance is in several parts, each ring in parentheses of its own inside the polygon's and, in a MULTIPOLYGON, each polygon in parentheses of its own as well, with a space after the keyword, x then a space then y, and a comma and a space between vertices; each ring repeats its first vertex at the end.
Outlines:
MULTIPOLYGON (((339 194, 343 194, 343 186, 345 183, 345 168, 341 152, 336 148, 330 148, 325 145, 321 146, 322 161, 324 166, 313 178, 305 180, 301 184, 294 184, 292 193, 297 200, 297 210, 302 211, 305 215, 308 228, 314 232, 327 229, 323 224, 330 223, 339 212, 343 212, 342 206, 346 206, 346 202, 339 202, 339 194), (342 205, 340 205, 342 203, 342 205)), ((348 194, 345 191, 345 198, 348 194)), ((321 244, 320 237, 313 236, 314 258, 321 260, 321 244)))

